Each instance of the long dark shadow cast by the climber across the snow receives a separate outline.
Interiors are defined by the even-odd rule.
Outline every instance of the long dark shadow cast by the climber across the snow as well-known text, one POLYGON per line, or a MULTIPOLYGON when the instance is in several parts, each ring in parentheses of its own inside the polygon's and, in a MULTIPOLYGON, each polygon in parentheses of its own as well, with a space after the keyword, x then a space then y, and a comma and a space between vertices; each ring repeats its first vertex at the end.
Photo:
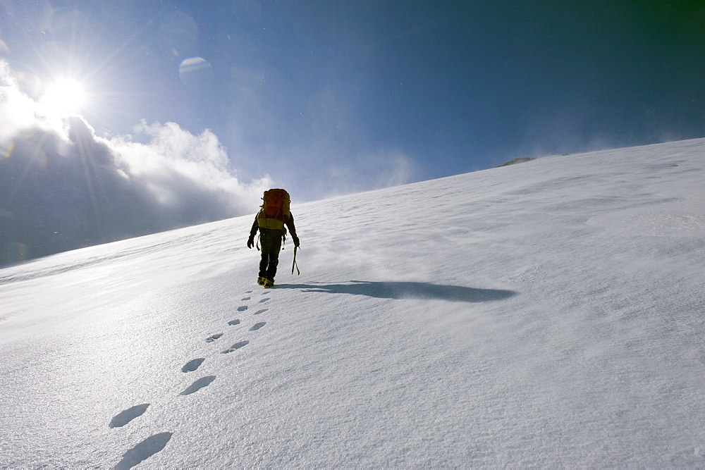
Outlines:
POLYGON ((517 295, 512 290, 475 289, 460 285, 437 285, 412 282, 372 282, 353 280, 348 284, 278 284, 277 289, 301 289, 303 292, 366 295, 379 299, 438 299, 450 302, 491 302, 517 295))

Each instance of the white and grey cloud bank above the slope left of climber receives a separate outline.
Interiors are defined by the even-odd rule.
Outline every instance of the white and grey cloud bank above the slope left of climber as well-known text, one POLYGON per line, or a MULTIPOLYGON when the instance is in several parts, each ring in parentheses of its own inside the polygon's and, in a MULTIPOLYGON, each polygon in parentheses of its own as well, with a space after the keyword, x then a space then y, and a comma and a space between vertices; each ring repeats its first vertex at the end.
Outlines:
POLYGON ((44 111, 0 61, 0 264, 11 245, 39 256, 250 214, 271 185, 238 180, 209 130, 142 123, 140 143, 44 111))

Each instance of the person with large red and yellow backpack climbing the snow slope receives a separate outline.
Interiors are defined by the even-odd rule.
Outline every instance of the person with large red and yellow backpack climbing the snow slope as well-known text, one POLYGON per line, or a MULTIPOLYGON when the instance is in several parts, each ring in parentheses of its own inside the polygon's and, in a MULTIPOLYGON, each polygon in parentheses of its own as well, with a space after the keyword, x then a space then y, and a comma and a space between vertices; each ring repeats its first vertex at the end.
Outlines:
MULTIPOLYGON (((294 216, 289 211, 289 194, 285 190, 269 190, 264 192, 264 204, 255 216, 255 221, 250 229, 250 239, 247 247, 255 246, 255 235, 259 230, 259 245, 262 245, 262 260, 259 261, 259 276, 257 284, 264 285, 266 289, 274 286, 276 266, 279 264, 279 251, 281 242, 286 237, 286 228, 289 229, 294 247, 299 247, 299 237, 296 235, 294 216), (286 228, 285 228, 286 225, 286 228)), ((294 258, 296 253, 294 252, 294 258)))

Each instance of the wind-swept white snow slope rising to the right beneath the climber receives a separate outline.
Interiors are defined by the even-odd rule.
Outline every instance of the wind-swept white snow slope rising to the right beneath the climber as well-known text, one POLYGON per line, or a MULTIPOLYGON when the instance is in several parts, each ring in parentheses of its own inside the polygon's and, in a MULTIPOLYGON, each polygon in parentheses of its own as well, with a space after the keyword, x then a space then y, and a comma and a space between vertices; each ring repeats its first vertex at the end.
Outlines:
MULTIPOLYGON (((0 466, 705 466, 705 140, 0 270, 0 466)), ((294 194, 295 196, 295 194, 294 194)))

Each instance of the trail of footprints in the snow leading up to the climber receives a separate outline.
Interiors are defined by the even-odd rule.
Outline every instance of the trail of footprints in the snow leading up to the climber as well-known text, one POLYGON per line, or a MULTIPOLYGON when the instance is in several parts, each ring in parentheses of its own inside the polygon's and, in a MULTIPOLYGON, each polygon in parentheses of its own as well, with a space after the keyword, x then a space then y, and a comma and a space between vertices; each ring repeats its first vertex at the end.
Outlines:
MULTIPOLYGON (((249 296, 250 294, 252 294, 252 290, 248 290, 247 292, 245 292, 245 294, 246 296, 241 299, 241 302, 247 302, 252 300, 252 297, 249 296)), ((257 303, 266 304, 266 302, 269 302, 269 300, 271 300, 271 297, 264 297, 263 299, 260 299, 257 303)), ((237 310, 240 312, 247 311, 247 307, 247 305, 241 305, 240 307, 238 307, 237 310)), ((255 313, 253 313, 252 315, 261 315, 264 314, 266 311, 269 311, 269 309, 259 309, 255 311, 255 313)), ((228 326, 238 326, 241 324, 242 322, 240 321, 240 319, 233 319, 231 321, 228 321, 228 326)), ((260 330, 261 328, 264 328, 265 325, 266 321, 258 321, 257 323, 252 324, 248 331, 260 330)), ((240 328, 238 328, 238 330, 240 330, 240 328)), ((208 338, 205 338, 205 342, 216 342, 217 340, 222 338, 223 335, 226 335, 226 333, 216 333, 214 335, 210 335, 208 338)), ((235 342, 235 344, 233 344, 231 347, 228 347, 228 349, 221 351, 221 354, 230 354, 231 352, 235 352, 249 344, 250 340, 239 340, 238 342, 235 342)), ((181 372, 195 372, 204 363, 205 360, 206 359, 204 357, 191 359, 183 365, 183 367, 181 368, 181 372)), ((196 393, 202 388, 206 388, 215 380, 216 376, 201 377, 195 382, 193 382, 191 385, 189 385, 187 388, 185 388, 182 392, 180 392, 179 395, 184 396, 196 393)), ((113 419, 111 419, 110 423, 108 424, 108 427, 121 428, 123 426, 127 426, 130 421, 133 421, 134 419, 137 419, 142 416, 142 414, 145 414, 149 406, 149 403, 142 403, 123 410, 122 412, 116 414, 113 419)), ((115 466, 115 469, 131 469, 133 466, 136 466, 137 464, 140 464, 141 462, 144 462, 145 460, 149 459, 149 457, 152 457, 152 455, 161 452, 161 450, 164 450, 164 447, 166 447, 169 440, 171 440, 172 435, 173 433, 167 432, 157 433, 149 436, 149 438, 143 440, 141 443, 135 445, 135 447, 125 452, 121 461, 118 462, 118 464, 115 466)))

